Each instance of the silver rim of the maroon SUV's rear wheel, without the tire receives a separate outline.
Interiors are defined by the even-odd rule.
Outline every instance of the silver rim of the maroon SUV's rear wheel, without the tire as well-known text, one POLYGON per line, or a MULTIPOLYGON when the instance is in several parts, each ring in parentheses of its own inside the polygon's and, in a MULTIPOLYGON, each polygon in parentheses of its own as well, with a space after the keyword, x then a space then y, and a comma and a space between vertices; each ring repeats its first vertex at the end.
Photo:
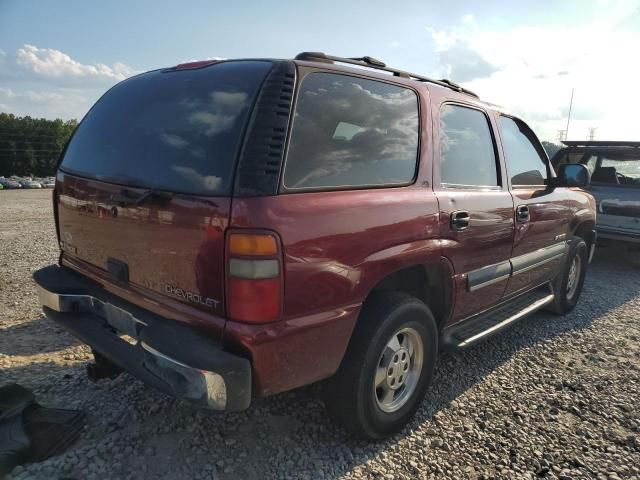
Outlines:
POLYGON ((420 334, 413 328, 394 333, 378 359, 373 395, 380 410, 395 412, 413 395, 424 359, 420 334))

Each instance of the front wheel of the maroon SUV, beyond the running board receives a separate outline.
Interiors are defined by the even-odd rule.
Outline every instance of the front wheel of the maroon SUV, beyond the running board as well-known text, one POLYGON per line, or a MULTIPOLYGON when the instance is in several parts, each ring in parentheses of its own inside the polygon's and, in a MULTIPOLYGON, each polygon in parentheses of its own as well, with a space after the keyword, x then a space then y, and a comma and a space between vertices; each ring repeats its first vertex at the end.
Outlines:
POLYGON ((553 281, 556 296, 549 305, 549 311, 566 315, 575 308, 582 293, 588 260, 587 244, 582 238, 573 237, 562 271, 553 281))

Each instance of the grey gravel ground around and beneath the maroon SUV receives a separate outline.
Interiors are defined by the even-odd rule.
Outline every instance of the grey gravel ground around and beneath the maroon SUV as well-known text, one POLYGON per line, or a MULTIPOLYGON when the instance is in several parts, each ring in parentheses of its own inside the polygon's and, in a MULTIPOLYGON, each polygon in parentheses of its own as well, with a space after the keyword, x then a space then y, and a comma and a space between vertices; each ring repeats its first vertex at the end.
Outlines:
POLYGON ((637 256, 599 249, 571 315, 538 313, 441 355, 413 422, 366 444, 327 420, 314 387, 219 414, 125 374, 88 381, 88 349, 43 319, 31 282, 57 258, 50 195, 0 192, 0 384, 82 408, 87 426, 9 478, 640 479, 637 256))

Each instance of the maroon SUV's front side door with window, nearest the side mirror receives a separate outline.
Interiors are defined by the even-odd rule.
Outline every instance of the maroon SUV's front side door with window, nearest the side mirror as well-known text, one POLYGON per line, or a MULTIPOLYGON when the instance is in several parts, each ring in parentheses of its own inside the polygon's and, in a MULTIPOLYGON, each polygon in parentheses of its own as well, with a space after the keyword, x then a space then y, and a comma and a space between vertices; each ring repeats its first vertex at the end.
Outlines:
POLYGON ((511 295, 555 276, 564 259, 572 212, 565 189, 545 185, 549 160, 533 131, 504 115, 498 124, 514 202, 513 270, 505 291, 511 295))

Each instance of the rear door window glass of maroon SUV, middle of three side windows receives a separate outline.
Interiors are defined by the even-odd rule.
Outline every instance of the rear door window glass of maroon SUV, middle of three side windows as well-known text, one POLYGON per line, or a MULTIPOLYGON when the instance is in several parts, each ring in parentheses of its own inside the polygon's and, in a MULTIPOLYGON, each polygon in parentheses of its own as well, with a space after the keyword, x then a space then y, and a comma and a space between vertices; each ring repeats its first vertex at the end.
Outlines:
POLYGON ((489 120, 480 110, 450 104, 440 109, 440 179, 443 184, 498 186, 489 120))

